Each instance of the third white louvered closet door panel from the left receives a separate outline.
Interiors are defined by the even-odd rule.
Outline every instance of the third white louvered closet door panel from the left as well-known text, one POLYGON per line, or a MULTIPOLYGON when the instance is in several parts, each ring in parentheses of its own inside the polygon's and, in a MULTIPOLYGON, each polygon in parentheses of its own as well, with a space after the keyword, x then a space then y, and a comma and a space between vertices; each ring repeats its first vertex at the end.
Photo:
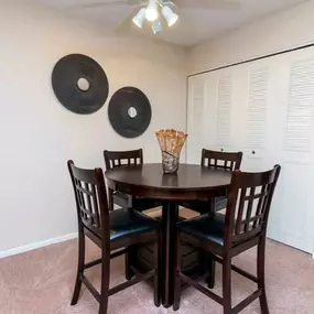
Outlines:
POLYGON ((264 171, 272 167, 274 143, 273 110, 277 95, 275 59, 268 58, 241 65, 240 98, 236 119, 238 150, 243 152, 242 171, 264 171))

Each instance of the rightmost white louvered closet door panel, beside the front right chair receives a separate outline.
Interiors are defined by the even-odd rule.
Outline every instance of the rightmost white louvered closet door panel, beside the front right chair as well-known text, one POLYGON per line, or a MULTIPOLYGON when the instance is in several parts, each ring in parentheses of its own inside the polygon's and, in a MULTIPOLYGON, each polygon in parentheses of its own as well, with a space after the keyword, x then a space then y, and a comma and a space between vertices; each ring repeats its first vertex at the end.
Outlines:
POLYGON ((314 48, 277 62, 273 155, 282 173, 270 214, 269 237, 314 252, 314 48))

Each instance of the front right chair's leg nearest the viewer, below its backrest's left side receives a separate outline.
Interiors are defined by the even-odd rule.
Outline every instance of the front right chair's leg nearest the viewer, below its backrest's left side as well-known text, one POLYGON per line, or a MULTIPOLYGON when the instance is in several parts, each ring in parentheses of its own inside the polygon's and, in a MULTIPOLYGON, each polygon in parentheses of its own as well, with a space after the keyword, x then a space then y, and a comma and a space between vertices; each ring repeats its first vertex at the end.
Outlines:
POLYGON ((231 258, 228 255, 223 261, 223 306, 224 314, 231 314, 231 258))

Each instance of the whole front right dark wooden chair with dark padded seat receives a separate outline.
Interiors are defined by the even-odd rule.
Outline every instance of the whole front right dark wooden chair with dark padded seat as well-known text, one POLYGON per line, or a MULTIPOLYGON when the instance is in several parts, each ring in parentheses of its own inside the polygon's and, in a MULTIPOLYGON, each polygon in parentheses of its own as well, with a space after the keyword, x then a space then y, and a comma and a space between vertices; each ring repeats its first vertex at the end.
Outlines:
POLYGON ((258 297, 262 314, 269 314, 264 282, 266 234, 280 170, 280 165, 275 165, 261 173, 235 171, 228 192, 226 215, 203 215, 178 224, 176 260, 181 260, 181 242, 188 242, 210 252, 216 261, 223 263, 223 297, 184 275, 181 272, 181 262, 177 262, 174 310, 180 307, 183 281, 221 304, 224 314, 237 314, 258 297), (231 264, 234 257, 256 246, 257 275, 231 264), (258 284, 258 289, 235 307, 231 305, 231 270, 258 284))

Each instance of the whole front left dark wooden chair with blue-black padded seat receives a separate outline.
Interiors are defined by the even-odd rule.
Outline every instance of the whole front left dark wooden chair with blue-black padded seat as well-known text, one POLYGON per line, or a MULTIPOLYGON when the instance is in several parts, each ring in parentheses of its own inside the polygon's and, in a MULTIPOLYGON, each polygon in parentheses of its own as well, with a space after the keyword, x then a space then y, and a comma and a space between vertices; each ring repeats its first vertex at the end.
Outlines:
POLYGON ((78 219, 78 267, 72 305, 78 301, 82 283, 99 303, 99 314, 106 314, 108 297, 140 281, 153 278, 154 303, 160 305, 159 295, 159 221, 150 219, 137 210, 121 208, 109 210, 104 172, 101 169, 83 170, 68 161, 78 219), (85 263, 85 237, 101 249, 101 258, 85 263), (145 242, 154 242, 154 269, 138 273, 129 281, 109 289, 110 259, 121 256, 128 248, 145 242), (85 275, 85 270, 101 263, 100 293, 85 275))

